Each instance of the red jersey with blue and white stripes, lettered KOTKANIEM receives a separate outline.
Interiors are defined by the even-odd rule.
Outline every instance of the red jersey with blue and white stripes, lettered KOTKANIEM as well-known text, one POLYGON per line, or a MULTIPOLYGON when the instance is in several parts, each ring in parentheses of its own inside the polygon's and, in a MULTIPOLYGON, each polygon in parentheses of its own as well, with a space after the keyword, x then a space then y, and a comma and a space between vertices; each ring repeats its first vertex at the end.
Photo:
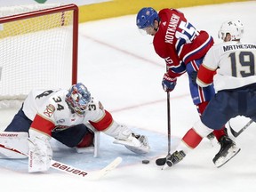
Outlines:
POLYGON ((212 47, 212 36, 197 31, 178 10, 163 9, 158 15, 161 21, 154 36, 155 51, 165 60, 169 76, 180 76, 189 61, 204 57, 212 47))

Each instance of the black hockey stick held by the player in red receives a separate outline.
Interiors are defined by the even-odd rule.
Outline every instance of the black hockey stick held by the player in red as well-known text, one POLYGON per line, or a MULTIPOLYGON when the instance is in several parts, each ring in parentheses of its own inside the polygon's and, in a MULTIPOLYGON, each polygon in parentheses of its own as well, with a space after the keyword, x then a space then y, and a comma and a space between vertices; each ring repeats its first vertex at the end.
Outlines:
POLYGON ((158 166, 163 166, 166 163, 166 158, 171 156, 171 112, 170 112, 170 92, 167 92, 167 134, 168 134, 168 153, 164 158, 156 159, 158 166))

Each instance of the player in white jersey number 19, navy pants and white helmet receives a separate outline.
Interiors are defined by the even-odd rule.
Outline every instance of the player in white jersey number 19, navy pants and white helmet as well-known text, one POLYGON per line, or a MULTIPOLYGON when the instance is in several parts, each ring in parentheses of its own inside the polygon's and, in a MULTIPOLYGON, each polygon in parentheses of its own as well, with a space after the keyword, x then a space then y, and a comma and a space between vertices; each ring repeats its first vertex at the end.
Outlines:
MULTIPOLYGON (((183 136, 176 151, 167 156, 165 167, 179 163, 212 130, 219 130, 233 117, 246 116, 256 122, 256 44, 241 43, 243 33, 240 20, 222 24, 219 37, 224 43, 213 45, 207 52, 196 77, 200 86, 214 83, 216 94, 201 120, 183 136)), ((220 167, 239 151, 234 142, 224 137, 213 163, 220 167)))

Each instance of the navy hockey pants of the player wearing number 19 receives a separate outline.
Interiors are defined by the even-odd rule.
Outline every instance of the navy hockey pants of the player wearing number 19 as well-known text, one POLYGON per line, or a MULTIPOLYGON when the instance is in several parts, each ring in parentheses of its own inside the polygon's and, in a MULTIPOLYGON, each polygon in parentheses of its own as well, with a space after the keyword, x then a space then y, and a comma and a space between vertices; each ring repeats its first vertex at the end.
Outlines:
POLYGON ((234 90, 217 92, 201 116, 202 122, 213 130, 236 116, 246 116, 256 122, 256 84, 234 90))

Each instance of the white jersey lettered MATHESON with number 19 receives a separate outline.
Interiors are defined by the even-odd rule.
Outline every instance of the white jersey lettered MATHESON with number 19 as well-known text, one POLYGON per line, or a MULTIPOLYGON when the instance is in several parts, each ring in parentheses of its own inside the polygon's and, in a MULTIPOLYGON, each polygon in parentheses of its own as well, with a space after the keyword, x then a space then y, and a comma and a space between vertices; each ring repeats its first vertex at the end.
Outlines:
MULTIPOLYGON (((197 77, 201 76, 200 69, 197 77)), ((204 75, 199 82, 205 83, 207 82, 205 79, 211 79, 212 76, 217 92, 254 84, 256 83, 256 44, 236 41, 215 44, 206 54, 202 69, 204 75), (207 70, 210 72, 208 73, 207 70), (215 70, 216 75, 211 73, 215 70)))

